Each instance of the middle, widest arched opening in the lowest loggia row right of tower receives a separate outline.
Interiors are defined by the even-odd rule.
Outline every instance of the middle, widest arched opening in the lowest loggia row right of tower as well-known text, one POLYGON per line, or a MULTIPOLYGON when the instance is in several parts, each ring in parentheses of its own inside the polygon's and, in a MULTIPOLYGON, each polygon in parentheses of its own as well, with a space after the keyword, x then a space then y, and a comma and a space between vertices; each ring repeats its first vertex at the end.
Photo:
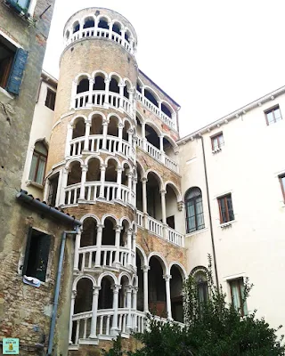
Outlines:
POLYGON ((159 258, 151 256, 149 271, 149 309, 151 314, 167 318, 166 282, 159 258))

